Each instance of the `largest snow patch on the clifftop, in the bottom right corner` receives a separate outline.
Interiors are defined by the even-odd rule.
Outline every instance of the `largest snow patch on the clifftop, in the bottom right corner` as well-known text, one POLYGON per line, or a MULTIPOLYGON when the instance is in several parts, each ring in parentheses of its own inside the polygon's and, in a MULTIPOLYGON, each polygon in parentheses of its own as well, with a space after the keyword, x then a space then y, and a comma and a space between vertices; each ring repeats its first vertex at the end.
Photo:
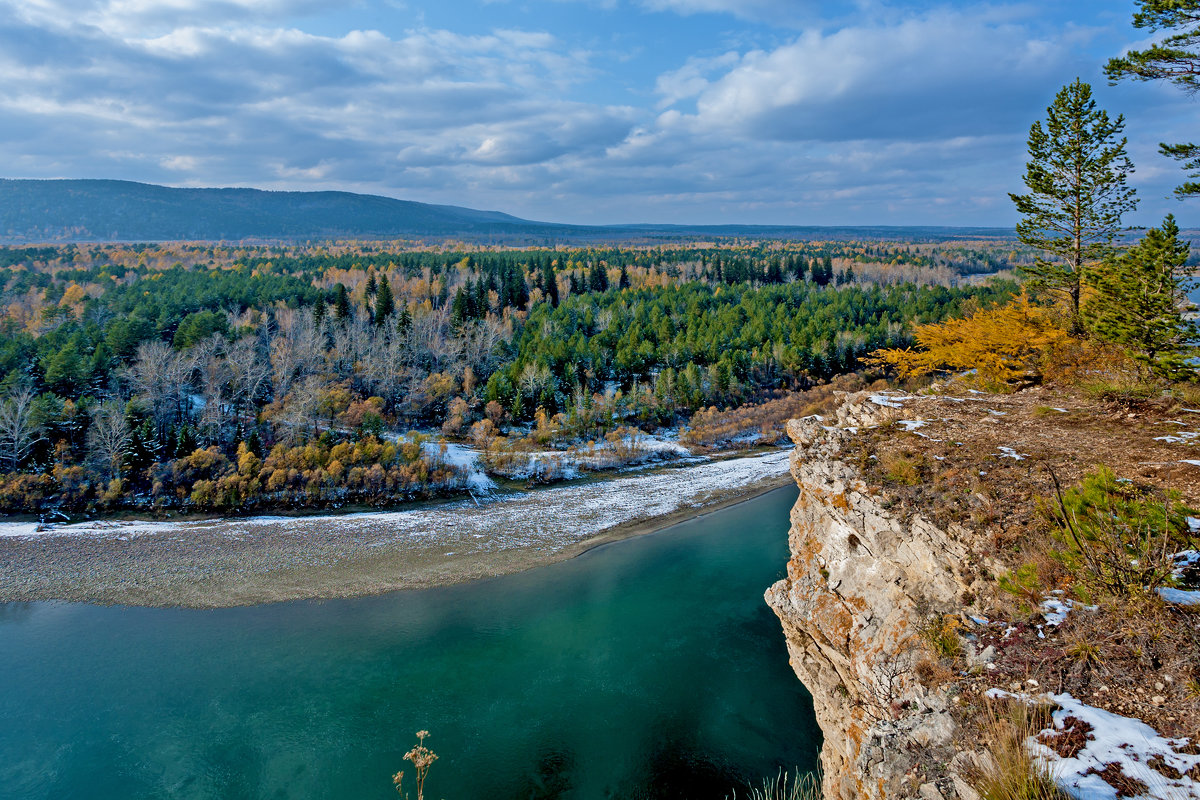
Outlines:
MULTIPOLYGON (((992 698, 1019 699, 1025 703, 1046 698, 1012 694, 1003 690, 988 691, 992 698)), ((1052 714, 1054 728, 1046 728, 1026 741, 1031 754, 1045 764, 1055 783, 1075 800, 1116 800, 1117 790, 1102 777, 1105 769, 1117 765, 1126 776, 1141 781, 1147 790, 1136 798, 1154 800, 1200 800, 1200 782, 1186 772, 1200 765, 1200 756, 1180 752, 1190 750, 1187 739, 1164 739, 1141 720, 1123 717, 1076 700, 1070 694, 1050 694, 1058 708, 1052 714), (1056 733, 1074 729, 1086 735, 1082 747, 1070 754, 1056 733), (1055 748, 1057 746, 1057 748, 1055 748), (1067 753, 1067 754, 1062 754, 1067 753), (1156 769, 1157 768, 1157 769, 1156 769), (1180 775, 1180 777, 1169 777, 1180 775)))

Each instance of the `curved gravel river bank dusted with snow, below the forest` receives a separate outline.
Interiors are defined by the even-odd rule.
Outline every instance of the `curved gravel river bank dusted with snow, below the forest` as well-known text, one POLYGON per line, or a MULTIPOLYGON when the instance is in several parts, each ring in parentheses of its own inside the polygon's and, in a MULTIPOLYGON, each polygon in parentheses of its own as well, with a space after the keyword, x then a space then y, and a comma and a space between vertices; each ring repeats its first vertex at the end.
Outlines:
POLYGON ((461 583, 739 503, 788 485, 787 470, 776 451, 402 511, 0 523, 0 602, 220 608, 461 583))

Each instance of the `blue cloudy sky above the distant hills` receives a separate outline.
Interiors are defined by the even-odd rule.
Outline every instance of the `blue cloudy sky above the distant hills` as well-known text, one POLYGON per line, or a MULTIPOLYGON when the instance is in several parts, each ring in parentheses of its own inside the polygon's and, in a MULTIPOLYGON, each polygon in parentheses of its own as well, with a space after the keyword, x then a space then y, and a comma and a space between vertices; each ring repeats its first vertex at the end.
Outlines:
MULTIPOLYGON (((0 176, 342 190, 569 223, 1012 225, 1076 77, 1141 205, 1200 100, 1134 0, 0 0, 0 176)), ((1189 218, 1190 217, 1190 218, 1189 218)))

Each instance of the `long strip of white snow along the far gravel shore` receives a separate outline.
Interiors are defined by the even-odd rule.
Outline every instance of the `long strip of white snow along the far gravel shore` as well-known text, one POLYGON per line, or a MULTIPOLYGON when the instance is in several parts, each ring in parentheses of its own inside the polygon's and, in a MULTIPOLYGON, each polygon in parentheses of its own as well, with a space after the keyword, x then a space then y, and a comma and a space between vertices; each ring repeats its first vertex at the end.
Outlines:
POLYGON ((696 467, 664 469, 590 483, 535 492, 494 494, 407 511, 379 511, 311 517, 250 517, 196 522, 84 522, 48 527, 2 523, 0 535, 84 535, 130 539, 144 535, 244 536, 337 535, 346 531, 395 541, 446 541, 456 552, 534 548, 558 551, 608 528, 702 507, 714 493, 738 492, 787 474, 790 449, 764 456, 727 458, 696 467))

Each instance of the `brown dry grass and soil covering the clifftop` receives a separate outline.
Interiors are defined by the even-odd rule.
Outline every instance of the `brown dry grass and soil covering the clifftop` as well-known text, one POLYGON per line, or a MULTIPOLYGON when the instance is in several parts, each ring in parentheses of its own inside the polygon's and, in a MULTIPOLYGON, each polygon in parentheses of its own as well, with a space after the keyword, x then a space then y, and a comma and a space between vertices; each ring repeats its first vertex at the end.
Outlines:
MULTIPOLYGON (((906 401, 898 411, 901 419, 928 421, 919 431, 928 438, 893 423, 859 431, 842 452, 882 506, 901 519, 919 513, 966 546, 965 563, 953 565, 967 584, 962 604, 972 614, 1014 626, 1007 637, 1007 625, 973 628, 977 650, 995 646, 995 667, 956 680, 1010 688, 1034 679, 1038 691, 1070 692, 1090 705, 1138 717, 1165 736, 1194 735, 1200 730, 1198 610, 1170 606, 1152 593, 1110 599, 1105 595, 1111 593, 1093 591, 1090 602, 1100 604, 1098 612, 1075 610, 1054 627, 1045 625, 1039 607, 1049 593, 1069 593, 1081 583, 1079 571, 1064 563, 1069 559, 1061 558, 1062 531, 1055 539, 1046 515, 1045 500, 1056 505, 1046 467, 1054 468, 1064 491, 1103 464, 1132 481, 1121 486, 1144 487, 1147 505, 1171 489, 1183 505, 1200 507, 1200 468, 1184 463, 1200 459, 1200 439, 1168 440, 1170 434, 1200 432, 1200 414, 1184 410, 1200 409, 1200 389, 1159 389, 1159 396, 1139 403, 1097 399, 1069 387, 1003 396, 973 395, 954 385, 935 390, 940 397, 906 401), (1002 447, 1021 459, 1006 456, 1002 447), (918 461, 922 473, 912 481, 902 462, 918 461)), ((1160 541, 1157 533, 1136 541, 1153 545, 1139 548, 1144 555, 1160 553, 1164 545, 1169 552, 1187 545, 1178 536, 1160 541)), ((1090 555, 1092 549, 1088 542, 1090 555)), ((1115 558, 1120 549, 1108 552, 1115 558)), ((1081 589, 1088 594, 1086 585, 1081 589)), ((938 649, 934 642, 930 646, 938 649)), ((944 680, 934 666, 922 667, 918 676, 925 685, 944 680)))

